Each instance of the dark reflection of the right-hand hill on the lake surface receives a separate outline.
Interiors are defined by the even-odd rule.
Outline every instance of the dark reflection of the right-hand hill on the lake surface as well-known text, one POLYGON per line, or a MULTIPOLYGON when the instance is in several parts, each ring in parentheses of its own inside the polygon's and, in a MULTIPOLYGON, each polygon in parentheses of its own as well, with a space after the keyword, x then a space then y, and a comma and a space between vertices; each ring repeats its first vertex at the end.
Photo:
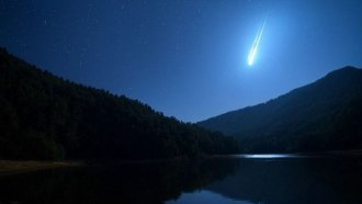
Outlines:
POLYGON ((362 159, 239 159, 233 177, 207 190, 253 203, 362 203, 362 159))

